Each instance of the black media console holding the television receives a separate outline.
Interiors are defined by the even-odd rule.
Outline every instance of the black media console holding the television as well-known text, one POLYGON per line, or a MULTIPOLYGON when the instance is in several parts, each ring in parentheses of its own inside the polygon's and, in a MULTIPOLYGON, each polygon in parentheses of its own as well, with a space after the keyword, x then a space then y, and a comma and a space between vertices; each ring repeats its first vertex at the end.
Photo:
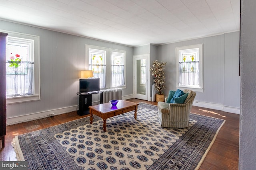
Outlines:
POLYGON ((100 94, 100 104, 103 103, 103 92, 94 91, 94 92, 77 92, 79 96, 79 110, 77 111, 78 115, 88 115, 90 114, 89 106, 92 106, 92 94, 100 94))

